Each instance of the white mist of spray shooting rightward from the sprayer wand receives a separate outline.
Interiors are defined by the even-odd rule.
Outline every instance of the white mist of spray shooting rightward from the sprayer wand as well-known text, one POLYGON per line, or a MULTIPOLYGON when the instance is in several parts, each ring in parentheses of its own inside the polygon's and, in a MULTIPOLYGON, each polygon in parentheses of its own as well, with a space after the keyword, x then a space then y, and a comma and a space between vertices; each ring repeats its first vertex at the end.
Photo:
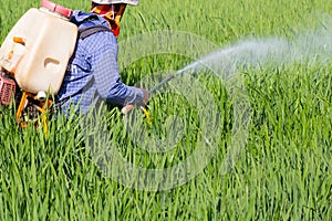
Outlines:
POLYGON ((259 69, 267 64, 272 66, 287 65, 294 62, 328 63, 332 56, 332 31, 329 27, 298 35, 293 41, 282 38, 240 41, 227 49, 212 52, 184 69, 168 75, 149 93, 156 92, 175 76, 186 71, 197 73, 204 69, 214 70, 221 80, 227 81, 239 69, 259 69))

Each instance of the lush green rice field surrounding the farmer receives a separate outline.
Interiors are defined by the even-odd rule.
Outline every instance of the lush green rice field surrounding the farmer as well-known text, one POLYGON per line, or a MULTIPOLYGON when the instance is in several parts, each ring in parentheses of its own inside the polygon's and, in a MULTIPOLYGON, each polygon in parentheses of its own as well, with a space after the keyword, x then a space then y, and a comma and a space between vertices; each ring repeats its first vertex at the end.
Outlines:
MULTIPOLYGON (((39 3, 1 0, 0 42, 39 3)), ((142 0, 127 8, 118 39, 123 82, 152 88, 216 51, 217 71, 172 80, 151 98, 151 124, 139 109, 123 117, 101 105, 89 116, 50 117, 45 136, 41 127, 18 127, 14 107, 0 106, 0 219, 331 220, 331 6, 142 0), (293 54, 278 50, 283 40, 295 42, 293 54), (269 45, 279 54, 253 53, 249 63, 249 53, 269 45), (234 60, 225 61, 228 51, 234 60), (246 117, 238 136, 237 119, 246 117)))

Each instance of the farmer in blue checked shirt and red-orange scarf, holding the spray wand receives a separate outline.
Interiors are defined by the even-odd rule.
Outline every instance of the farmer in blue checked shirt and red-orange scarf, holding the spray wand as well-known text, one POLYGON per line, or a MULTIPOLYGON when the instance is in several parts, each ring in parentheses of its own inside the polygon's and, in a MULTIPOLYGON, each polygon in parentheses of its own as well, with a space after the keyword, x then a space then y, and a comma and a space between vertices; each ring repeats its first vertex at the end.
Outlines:
POLYGON ((116 39, 127 4, 137 6, 138 0, 92 0, 90 13, 73 12, 71 22, 77 24, 81 34, 55 97, 64 112, 73 107, 86 114, 98 98, 123 106, 123 113, 147 103, 146 90, 127 86, 120 80, 116 39))

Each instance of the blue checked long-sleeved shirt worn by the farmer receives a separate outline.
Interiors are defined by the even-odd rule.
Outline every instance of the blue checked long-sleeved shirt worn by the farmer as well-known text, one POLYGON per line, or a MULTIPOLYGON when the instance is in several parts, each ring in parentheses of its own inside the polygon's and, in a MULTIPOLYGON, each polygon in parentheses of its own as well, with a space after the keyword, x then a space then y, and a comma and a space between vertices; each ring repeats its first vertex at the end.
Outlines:
MULTIPOLYGON (((82 11, 74 11, 71 22, 79 29, 108 27, 103 18, 82 11)), ((142 90, 121 82, 116 38, 112 32, 102 31, 77 40, 55 103, 61 104, 62 110, 74 105, 77 112, 85 114, 98 98, 124 106, 139 103, 143 97, 142 90)))

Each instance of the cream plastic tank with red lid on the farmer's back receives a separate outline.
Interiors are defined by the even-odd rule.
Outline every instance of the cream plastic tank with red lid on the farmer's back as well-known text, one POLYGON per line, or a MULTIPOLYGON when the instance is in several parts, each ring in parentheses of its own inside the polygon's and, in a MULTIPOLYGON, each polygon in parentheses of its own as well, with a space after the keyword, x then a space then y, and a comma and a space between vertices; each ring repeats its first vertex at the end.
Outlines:
POLYGON ((72 11, 43 0, 28 10, 0 48, 0 66, 25 92, 56 94, 77 38, 72 11))

